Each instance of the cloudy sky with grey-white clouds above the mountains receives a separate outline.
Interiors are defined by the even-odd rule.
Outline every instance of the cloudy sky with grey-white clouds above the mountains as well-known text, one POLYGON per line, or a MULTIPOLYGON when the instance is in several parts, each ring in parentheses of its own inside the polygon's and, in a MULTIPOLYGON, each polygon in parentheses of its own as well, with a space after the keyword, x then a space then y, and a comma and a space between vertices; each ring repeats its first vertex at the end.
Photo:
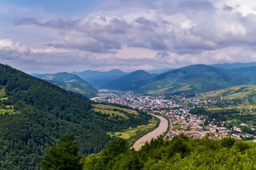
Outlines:
POLYGON ((0 63, 26 73, 256 61, 256 0, 0 0, 0 63))

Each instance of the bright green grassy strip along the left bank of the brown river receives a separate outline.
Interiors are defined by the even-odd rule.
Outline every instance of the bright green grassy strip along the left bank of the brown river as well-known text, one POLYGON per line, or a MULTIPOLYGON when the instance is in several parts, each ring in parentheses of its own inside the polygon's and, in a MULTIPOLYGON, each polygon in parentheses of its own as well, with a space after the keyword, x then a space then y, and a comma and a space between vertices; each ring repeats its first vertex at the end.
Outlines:
POLYGON ((116 136, 116 137, 120 137, 120 138, 124 138, 124 139, 129 139, 133 136, 136 136, 138 130, 145 131, 145 130, 148 130, 148 129, 152 129, 157 125, 157 120, 154 120, 154 118, 151 119, 149 122, 150 123, 148 125, 140 125, 140 126, 137 126, 135 128, 130 127, 129 129, 125 129, 123 132, 114 132, 114 133, 108 132, 108 134, 111 135, 111 136, 116 136), (121 136, 119 134, 121 134, 121 136))

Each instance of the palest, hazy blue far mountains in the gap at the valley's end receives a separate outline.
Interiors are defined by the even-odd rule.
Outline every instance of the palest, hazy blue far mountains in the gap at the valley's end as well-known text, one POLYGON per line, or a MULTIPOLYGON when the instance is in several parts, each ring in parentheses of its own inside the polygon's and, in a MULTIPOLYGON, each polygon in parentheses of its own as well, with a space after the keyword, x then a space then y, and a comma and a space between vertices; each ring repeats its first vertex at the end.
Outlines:
POLYGON ((102 86, 128 73, 125 73, 119 69, 113 69, 106 72, 86 70, 79 73, 72 72, 72 74, 78 75, 93 86, 102 86))

